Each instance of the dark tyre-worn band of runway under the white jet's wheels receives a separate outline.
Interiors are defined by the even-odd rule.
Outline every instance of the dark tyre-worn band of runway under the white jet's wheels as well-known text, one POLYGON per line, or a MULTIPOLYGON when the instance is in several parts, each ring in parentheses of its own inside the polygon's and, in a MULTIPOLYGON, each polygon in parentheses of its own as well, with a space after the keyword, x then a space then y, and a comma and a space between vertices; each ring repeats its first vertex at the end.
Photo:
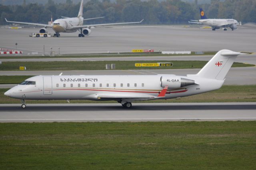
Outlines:
POLYGON ((122 106, 27 106, 21 107, 0 107, 0 111, 172 111, 172 110, 256 110, 256 105, 135 105, 131 109, 122 106))

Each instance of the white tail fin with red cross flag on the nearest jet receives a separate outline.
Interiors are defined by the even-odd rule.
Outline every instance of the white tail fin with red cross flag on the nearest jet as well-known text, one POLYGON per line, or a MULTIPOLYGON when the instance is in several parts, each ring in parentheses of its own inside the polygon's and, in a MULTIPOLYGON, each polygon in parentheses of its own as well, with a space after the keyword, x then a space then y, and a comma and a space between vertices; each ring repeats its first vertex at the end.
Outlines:
POLYGON ((230 67, 240 52, 222 49, 212 57, 210 61, 196 74, 198 77, 224 80, 230 67))

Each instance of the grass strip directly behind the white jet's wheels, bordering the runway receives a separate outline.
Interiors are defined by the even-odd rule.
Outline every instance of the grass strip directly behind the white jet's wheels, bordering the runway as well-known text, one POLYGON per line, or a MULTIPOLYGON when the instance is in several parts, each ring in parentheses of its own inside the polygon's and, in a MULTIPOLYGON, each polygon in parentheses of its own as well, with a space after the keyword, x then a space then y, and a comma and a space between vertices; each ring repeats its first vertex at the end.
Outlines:
MULTIPOLYGON (((216 91, 178 99, 141 101, 134 103, 191 103, 191 102, 256 102, 256 85, 224 85, 216 91)), ((20 103, 4 95, 8 89, 0 89, 0 104, 20 103)), ((65 100, 27 100, 27 103, 67 103, 65 100)), ((116 101, 71 100, 70 103, 116 103, 116 101)))

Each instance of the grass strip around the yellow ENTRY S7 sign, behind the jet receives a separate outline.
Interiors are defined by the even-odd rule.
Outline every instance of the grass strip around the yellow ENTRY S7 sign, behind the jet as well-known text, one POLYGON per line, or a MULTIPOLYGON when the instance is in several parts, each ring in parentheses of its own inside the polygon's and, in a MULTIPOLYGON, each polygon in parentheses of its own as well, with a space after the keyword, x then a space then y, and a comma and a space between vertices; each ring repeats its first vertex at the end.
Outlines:
MULTIPOLYGON (((116 69, 190 69, 202 68, 208 61, 41 61, 41 62, 2 62, 0 71, 19 70, 25 66, 27 71, 33 70, 104 70, 106 64, 116 64, 116 69), (171 62, 173 67, 135 67, 135 63, 171 62)), ((255 65, 234 63, 232 67, 252 67, 255 65)))

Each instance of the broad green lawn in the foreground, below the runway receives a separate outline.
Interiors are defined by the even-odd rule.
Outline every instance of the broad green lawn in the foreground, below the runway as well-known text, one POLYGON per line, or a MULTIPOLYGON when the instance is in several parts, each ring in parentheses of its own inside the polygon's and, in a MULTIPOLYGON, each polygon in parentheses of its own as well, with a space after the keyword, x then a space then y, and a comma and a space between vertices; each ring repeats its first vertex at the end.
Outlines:
POLYGON ((0 168, 249 170, 256 122, 0 123, 0 168))

